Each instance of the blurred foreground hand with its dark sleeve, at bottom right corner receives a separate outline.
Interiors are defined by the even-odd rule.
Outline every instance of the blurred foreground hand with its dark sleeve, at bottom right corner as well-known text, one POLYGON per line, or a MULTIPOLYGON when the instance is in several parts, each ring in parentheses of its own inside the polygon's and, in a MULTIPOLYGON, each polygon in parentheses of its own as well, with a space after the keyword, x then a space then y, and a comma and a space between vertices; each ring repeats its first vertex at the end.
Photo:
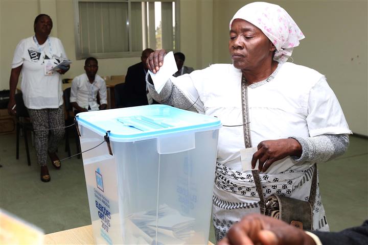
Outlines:
POLYGON ((368 219, 361 226, 340 232, 308 232, 291 226, 280 219, 252 213, 245 215, 239 223, 233 225, 226 237, 217 244, 368 244, 368 219))

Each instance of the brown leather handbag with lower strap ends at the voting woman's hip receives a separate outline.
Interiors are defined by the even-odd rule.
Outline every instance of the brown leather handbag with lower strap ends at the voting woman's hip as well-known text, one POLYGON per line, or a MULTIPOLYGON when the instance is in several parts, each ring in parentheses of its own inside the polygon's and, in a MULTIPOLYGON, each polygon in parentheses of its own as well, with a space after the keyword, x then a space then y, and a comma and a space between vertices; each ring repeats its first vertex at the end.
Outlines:
POLYGON ((272 194, 266 200, 263 195, 261 181, 258 170, 252 170, 253 178, 256 183, 258 195, 260 197, 260 210, 264 215, 283 220, 303 230, 311 230, 313 227, 313 205, 315 200, 317 185, 317 165, 313 166, 312 186, 308 202, 297 200, 280 195, 272 194))

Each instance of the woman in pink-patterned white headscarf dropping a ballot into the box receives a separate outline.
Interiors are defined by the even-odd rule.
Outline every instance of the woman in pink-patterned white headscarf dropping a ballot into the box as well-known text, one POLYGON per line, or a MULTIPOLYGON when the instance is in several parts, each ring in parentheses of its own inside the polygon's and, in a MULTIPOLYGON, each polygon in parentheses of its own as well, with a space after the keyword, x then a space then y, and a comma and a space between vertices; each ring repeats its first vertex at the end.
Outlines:
MULTIPOLYGON (((283 8, 261 2, 245 5, 229 27, 233 64, 171 77, 159 94, 147 75, 154 100, 192 107, 222 121, 212 210, 217 240, 246 213, 260 212, 251 168, 243 169, 241 152, 255 148, 250 151, 251 167, 260 171, 266 198, 279 194, 305 201, 313 164, 341 155, 351 134, 325 76, 286 62, 304 35, 283 8)), ((156 50, 147 59, 154 74, 165 54, 156 50)), ((313 229, 329 230, 318 187, 313 229)))

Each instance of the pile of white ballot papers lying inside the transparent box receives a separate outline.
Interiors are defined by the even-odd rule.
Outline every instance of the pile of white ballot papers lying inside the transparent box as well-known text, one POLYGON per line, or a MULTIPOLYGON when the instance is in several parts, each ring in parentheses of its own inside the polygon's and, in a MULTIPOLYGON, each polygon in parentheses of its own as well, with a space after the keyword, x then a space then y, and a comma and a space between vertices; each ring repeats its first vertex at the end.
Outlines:
POLYGON ((126 225, 129 226, 128 229, 136 242, 143 238, 149 244, 156 243, 156 239, 159 244, 184 244, 185 240, 195 233, 194 218, 182 216, 165 204, 159 206, 158 212, 138 212, 130 215, 128 219, 126 225))

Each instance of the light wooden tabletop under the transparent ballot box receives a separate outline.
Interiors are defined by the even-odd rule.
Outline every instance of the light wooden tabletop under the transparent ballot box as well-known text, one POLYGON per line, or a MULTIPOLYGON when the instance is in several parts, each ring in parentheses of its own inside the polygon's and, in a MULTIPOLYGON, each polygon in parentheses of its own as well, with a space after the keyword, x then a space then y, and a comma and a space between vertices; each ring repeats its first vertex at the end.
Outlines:
MULTIPOLYGON (((44 244, 94 244, 92 225, 44 235, 44 244)), ((209 245, 214 245, 209 241, 209 245)))

